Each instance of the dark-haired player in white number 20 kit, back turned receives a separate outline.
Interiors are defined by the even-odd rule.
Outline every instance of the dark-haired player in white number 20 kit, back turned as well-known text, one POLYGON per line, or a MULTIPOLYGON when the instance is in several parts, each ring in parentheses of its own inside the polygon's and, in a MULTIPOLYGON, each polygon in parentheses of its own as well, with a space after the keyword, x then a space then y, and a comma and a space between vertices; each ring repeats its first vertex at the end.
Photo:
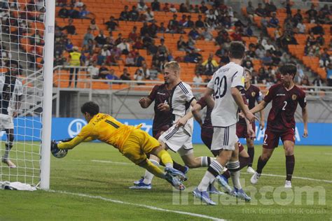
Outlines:
POLYGON ((216 205, 207 193, 207 187, 213 183, 216 176, 226 170, 226 164, 233 180, 234 190, 232 194, 246 201, 251 198, 242 190, 240 184, 240 162, 238 159, 238 145, 236 136, 236 123, 238 108, 242 110, 250 122, 254 122, 254 115, 250 113, 244 104, 240 90, 244 87, 244 69, 241 66, 244 57, 244 45, 240 42, 232 42, 229 51, 230 63, 222 66, 214 73, 212 80, 205 90, 205 100, 212 108, 212 126, 214 134, 211 150, 218 155, 212 162, 200 185, 193 191, 205 203, 216 205), (214 94, 215 99, 212 98, 214 94))

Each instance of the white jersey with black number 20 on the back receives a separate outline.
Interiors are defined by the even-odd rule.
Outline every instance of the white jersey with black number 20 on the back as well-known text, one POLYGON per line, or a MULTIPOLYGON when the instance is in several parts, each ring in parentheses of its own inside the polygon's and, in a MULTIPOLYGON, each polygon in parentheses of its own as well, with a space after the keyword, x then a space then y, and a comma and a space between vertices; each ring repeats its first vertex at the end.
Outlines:
POLYGON ((231 94, 232 87, 244 87, 244 69, 230 62, 218 69, 207 87, 214 90, 215 104, 211 114, 214 127, 236 124, 238 106, 231 94))

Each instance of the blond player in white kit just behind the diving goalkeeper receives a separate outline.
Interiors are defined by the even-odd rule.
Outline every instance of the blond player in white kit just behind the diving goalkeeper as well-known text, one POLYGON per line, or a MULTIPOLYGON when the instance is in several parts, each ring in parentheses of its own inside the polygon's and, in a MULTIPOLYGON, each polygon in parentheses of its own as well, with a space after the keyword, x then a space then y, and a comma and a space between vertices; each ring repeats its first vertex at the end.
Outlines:
MULTIPOLYGON (((191 87, 181 81, 180 71, 181 68, 177 62, 165 64, 165 82, 172 88, 169 104, 172 111, 173 124, 170 129, 158 138, 158 141, 166 150, 170 149, 174 152, 179 152, 179 155, 189 168, 209 166, 213 161, 212 157, 195 157, 193 155, 193 143, 191 141, 193 135, 193 113, 191 113, 191 106, 196 104, 196 100, 191 87)), ((153 155, 151 155, 150 159, 152 159, 152 162, 159 162, 158 157, 153 155)), ((153 174, 146 171, 143 182, 149 185, 152 178, 153 174)), ((213 185, 209 185, 209 191, 220 193, 214 189, 213 185)))

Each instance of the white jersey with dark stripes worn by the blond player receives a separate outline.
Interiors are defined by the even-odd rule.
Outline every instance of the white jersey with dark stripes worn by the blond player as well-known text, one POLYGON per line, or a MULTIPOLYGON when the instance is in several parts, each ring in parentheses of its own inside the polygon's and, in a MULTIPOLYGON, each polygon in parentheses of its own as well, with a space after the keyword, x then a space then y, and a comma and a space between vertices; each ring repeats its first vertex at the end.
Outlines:
MULTIPOLYGON (((191 86, 180 82, 172 90, 170 97, 170 108, 173 114, 173 124, 177 122, 181 117, 184 117, 188 111, 191 111, 191 101, 195 97, 191 91, 191 86)), ((188 134, 193 134, 193 117, 184 125, 184 129, 188 134)))

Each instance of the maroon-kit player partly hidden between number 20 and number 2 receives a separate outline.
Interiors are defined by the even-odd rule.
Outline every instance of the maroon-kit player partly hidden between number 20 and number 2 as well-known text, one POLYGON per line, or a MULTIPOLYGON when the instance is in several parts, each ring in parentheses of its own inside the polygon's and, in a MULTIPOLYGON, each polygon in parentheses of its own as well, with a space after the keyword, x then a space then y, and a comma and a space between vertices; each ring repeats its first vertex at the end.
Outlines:
MULTIPOLYGON (((241 91, 241 94, 247 99, 249 109, 252 109, 254 108, 256 101, 258 104, 262 102, 263 96, 261 90, 259 90, 258 87, 251 85, 250 83, 251 71, 249 71, 248 69, 245 69, 245 71, 246 71, 246 76, 244 78, 244 89, 241 91)), ((261 110, 259 113, 261 117, 259 126, 261 127, 261 129, 264 129, 264 110, 261 110)), ((254 122, 251 124, 251 127, 255 132, 256 126, 254 122)), ((252 162, 254 160, 254 153, 255 153, 254 139, 250 138, 249 135, 247 134, 247 123, 244 120, 244 118, 240 118, 239 122, 237 122, 236 124, 236 135, 238 138, 246 138, 248 154, 250 156, 250 162, 248 164, 247 172, 255 173, 255 170, 252 169, 252 162)))

